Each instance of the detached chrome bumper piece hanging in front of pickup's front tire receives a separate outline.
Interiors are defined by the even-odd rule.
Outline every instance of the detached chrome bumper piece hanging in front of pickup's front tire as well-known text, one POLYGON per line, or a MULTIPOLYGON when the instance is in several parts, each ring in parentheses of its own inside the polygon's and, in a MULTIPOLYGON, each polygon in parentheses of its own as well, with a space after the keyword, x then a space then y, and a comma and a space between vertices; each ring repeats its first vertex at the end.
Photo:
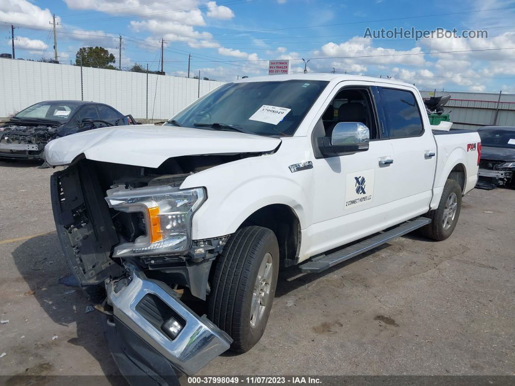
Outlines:
POLYGON ((232 339, 204 315, 198 317, 182 301, 178 300, 166 284, 148 279, 133 266, 127 267, 132 280, 118 288, 121 281, 107 285, 107 295, 114 309, 114 316, 155 348, 178 370, 193 375, 214 358, 229 349, 232 339), (156 328, 136 308, 143 297, 153 294, 185 321, 174 340, 156 328))

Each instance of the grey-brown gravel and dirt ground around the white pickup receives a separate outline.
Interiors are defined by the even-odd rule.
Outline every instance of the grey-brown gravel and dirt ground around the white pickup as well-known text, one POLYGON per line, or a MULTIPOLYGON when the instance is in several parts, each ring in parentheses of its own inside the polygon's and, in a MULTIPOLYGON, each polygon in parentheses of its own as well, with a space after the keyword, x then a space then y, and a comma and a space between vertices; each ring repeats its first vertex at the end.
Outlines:
MULTIPOLYGON (((37 165, 0 162, 0 375, 123 383, 99 316, 59 282, 53 170, 37 165)), ((286 270, 263 339, 200 375, 515 375, 514 230, 515 192, 475 189, 446 241, 411 234, 322 274, 286 270)))

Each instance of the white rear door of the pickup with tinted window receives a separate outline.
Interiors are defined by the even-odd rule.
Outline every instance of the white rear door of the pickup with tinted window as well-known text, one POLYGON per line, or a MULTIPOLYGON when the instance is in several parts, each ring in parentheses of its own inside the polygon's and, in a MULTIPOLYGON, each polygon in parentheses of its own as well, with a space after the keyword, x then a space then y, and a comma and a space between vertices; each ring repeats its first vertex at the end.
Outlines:
POLYGON ((414 88, 376 83, 382 125, 393 147, 392 210, 405 219, 429 208, 436 169, 436 143, 414 88))

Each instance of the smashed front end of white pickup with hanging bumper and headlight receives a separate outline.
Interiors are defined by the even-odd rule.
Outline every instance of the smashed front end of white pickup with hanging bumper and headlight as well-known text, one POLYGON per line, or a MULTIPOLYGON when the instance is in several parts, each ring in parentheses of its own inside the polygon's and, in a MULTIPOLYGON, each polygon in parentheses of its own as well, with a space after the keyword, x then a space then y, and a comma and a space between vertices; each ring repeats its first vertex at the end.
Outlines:
POLYGON ((228 237, 191 239, 191 217, 207 193, 181 190, 192 171, 166 167, 168 174, 82 159, 51 179, 59 240, 85 292, 102 303, 114 358, 124 375, 155 374, 159 384, 170 383, 169 369, 196 373, 232 342, 181 301, 185 292, 205 300, 228 237))

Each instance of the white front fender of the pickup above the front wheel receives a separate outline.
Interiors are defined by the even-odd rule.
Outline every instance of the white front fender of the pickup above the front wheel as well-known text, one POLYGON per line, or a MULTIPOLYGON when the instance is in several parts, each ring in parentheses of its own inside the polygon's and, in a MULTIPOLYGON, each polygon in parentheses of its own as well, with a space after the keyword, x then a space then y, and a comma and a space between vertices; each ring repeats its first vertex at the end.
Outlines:
POLYGON ((281 157, 262 156, 234 161, 187 177, 181 189, 203 186, 208 199, 193 215, 192 239, 202 240, 234 233, 256 210, 272 204, 290 207, 301 229, 309 225, 312 173, 291 173, 281 157), (256 164, 256 163, 259 163, 256 164), (238 176, 234 180, 231 176, 238 176), (244 178, 242 178, 242 176, 244 178), (287 192, 287 194, 286 194, 287 192))

